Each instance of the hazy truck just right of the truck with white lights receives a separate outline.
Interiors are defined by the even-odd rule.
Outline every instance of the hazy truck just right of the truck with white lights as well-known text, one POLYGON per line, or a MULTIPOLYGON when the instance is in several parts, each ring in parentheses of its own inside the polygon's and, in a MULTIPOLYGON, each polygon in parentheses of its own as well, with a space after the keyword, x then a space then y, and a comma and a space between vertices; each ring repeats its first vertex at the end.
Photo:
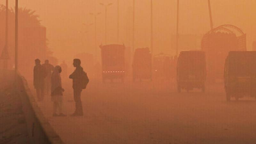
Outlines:
POLYGON ((133 82, 136 79, 152 80, 152 58, 149 48, 137 48, 132 61, 133 82))

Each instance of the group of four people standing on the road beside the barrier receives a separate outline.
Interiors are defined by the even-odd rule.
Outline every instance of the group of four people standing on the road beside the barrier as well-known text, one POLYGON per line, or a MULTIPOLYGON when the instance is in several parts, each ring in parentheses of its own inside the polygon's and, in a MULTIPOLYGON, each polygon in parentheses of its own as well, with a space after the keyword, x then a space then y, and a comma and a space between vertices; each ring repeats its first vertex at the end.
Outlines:
MULTIPOLYGON (((36 95, 38 101, 44 100, 44 92, 47 95, 51 95, 53 102, 53 116, 66 116, 62 111, 63 92, 60 73, 62 71, 61 66, 52 66, 49 60, 45 60, 44 64, 40 64, 40 60, 35 60, 34 67, 34 87, 36 89, 36 95)), ((69 76, 73 80, 74 100, 76 104, 76 110, 70 116, 83 116, 83 107, 81 101, 81 92, 86 88, 89 79, 81 67, 81 60, 74 59, 73 66, 75 71, 69 76)))

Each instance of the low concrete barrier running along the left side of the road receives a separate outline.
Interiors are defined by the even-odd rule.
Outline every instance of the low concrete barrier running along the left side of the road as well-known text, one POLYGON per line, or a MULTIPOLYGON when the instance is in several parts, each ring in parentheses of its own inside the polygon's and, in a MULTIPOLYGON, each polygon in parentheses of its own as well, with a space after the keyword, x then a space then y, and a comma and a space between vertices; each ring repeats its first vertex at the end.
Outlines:
POLYGON ((54 131, 31 94, 28 83, 23 76, 17 79, 17 94, 22 101, 22 109, 26 117, 29 141, 31 144, 64 144, 54 131))

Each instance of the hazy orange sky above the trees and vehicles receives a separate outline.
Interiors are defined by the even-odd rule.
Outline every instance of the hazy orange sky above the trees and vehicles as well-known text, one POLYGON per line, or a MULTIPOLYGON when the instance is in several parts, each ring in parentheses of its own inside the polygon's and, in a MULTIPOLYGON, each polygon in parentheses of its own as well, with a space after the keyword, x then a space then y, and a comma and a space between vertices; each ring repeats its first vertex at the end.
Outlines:
MULTIPOLYGON (((120 43, 129 46, 131 20, 128 19, 132 0, 120 2, 120 43), (130 31, 130 32, 129 32, 130 31)), ((0 0, 4 4, 5 0, 0 0)), ((105 8, 99 3, 113 3, 108 7, 107 43, 116 43, 117 0, 20 0, 21 7, 36 10, 42 25, 47 28, 49 46, 61 60, 72 59, 76 53, 94 54, 94 23, 90 12, 101 12, 97 20, 97 45, 104 44, 105 8), (88 33, 79 33, 79 31, 88 33)), ((135 47, 150 46, 150 0, 135 0, 135 47)), ((10 1, 13 7, 14 0, 10 1)), ((211 0, 213 25, 233 24, 247 34, 247 48, 256 40, 255 0, 211 0)), ((174 54, 170 36, 176 33, 176 0, 153 0, 154 52, 174 54)), ((132 14, 132 13, 130 13, 132 14)), ((207 0, 180 0, 180 34, 202 35, 210 30, 207 0)), ((195 48, 191 48, 195 49, 195 48)), ((98 49, 98 52, 99 49, 98 49)))

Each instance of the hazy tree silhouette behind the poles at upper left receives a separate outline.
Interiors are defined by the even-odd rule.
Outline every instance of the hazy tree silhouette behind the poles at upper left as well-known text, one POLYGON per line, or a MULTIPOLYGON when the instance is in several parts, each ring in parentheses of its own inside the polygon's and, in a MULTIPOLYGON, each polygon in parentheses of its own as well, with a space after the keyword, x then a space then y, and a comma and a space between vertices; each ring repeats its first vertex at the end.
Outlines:
MULTIPOLYGON (((36 11, 28 8, 19 8, 19 71, 23 75, 31 75, 35 58, 44 61, 47 57, 54 58, 46 43, 45 33, 42 29, 41 20, 36 11), (36 30, 36 31, 35 31, 36 30), (37 32, 38 31, 38 32, 37 32), (41 39, 40 39, 41 38, 41 39), (45 39, 45 40, 44 40, 45 39), (40 42, 39 42, 40 41, 40 42), (26 73, 26 74, 25 74, 26 73)), ((14 44, 15 44, 15 11, 9 9, 8 17, 8 51, 9 68, 14 65, 14 44)), ((0 5, 0 52, 5 45, 5 6, 0 5)), ((56 58, 55 58, 56 59, 56 58)), ((0 66, 1 68, 1 66, 0 66)))

